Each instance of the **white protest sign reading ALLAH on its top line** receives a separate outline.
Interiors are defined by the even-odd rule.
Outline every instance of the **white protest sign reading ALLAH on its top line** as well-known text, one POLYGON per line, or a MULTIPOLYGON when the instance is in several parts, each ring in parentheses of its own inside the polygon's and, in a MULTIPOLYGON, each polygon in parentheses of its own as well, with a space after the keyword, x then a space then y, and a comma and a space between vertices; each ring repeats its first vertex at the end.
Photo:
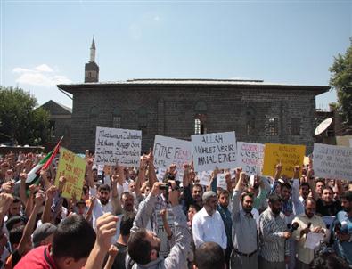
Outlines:
POLYGON ((194 171, 208 171, 236 166, 236 137, 234 132, 192 135, 194 171))

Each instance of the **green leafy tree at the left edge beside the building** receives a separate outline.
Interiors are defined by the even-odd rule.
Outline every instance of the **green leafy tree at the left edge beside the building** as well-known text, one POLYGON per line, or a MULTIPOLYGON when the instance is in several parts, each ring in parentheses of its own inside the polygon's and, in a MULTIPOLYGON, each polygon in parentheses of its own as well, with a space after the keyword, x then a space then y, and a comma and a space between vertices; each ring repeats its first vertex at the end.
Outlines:
POLYGON ((37 99, 22 89, 0 86, 0 142, 45 143, 49 114, 36 106, 37 99))

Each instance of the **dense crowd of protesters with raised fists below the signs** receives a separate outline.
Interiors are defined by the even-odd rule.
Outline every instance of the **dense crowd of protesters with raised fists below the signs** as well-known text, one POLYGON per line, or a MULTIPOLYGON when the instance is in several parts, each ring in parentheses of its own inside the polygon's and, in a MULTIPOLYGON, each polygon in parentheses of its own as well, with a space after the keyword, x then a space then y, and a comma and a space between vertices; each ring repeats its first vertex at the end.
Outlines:
POLYGON ((65 199, 55 161, 26 183, 43 157, 0 158, 1 268, 352 267, 351 185, 315 177, 312 164, 293 177, 281 163, 274 176, 216 169, 204 186, 192 163, 181 180, 176 165, 160 179, 150 152, 101 174, 86 151, 82 192, 65 199))

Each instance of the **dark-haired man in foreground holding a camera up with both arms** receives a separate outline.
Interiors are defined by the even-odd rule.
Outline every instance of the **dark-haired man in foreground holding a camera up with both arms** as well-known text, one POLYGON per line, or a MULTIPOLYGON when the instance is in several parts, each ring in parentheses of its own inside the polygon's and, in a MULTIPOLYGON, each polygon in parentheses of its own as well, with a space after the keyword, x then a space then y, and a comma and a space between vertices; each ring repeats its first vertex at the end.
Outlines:
POLYGON ((175 216, 175 233, 172 235, 171 250, 168 257, 159 257, 160 238, 154 232, 146 230, 151 213, 160 193, 160 185, 154 183, 151 193, 140 204, 134 226, 127 243, 128 257, 127 268, 184 268, 187 253, 191 244, 191 235, 187 228, 186 217, 178 202, 178 192, 170 189, 168 200, 175 216))

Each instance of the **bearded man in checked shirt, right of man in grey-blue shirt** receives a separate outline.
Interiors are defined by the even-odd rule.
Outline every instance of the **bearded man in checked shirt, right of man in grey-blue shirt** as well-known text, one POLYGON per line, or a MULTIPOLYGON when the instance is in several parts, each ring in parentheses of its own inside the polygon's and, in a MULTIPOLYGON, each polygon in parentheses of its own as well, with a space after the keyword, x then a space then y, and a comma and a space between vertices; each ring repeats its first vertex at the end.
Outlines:
POLYGON ((259 216, 262 248, 260 249, 259 268, 285 269, 289 262, 290 248, 285 216, 281 212, 282 198, 276 193, 269 196, 269 207, 259 216))

